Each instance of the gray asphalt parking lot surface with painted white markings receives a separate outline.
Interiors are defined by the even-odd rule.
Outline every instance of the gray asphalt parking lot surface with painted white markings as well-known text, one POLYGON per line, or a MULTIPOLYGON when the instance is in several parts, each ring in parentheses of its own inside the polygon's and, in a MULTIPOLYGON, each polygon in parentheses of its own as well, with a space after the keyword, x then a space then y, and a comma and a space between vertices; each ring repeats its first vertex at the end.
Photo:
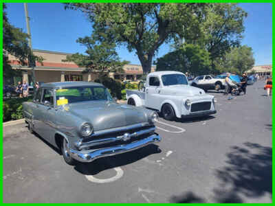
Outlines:
POLYGON ((271 203, 272 98, 263 81, 217 113, 160 118, 156 145, 69 166, 28 132, 3 127, 4 203, 271 203))

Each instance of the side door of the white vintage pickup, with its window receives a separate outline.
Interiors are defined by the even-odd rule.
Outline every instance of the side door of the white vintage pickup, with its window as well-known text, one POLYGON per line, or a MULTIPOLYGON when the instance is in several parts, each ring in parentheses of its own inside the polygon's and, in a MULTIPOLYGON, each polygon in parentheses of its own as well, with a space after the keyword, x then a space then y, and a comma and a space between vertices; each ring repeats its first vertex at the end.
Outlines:
POLYGON ((160 82, 157 76, 150 76, 148 78, 148 85, 145 89, 145 106, 148 108, 159 107, 159 87, 160 82))

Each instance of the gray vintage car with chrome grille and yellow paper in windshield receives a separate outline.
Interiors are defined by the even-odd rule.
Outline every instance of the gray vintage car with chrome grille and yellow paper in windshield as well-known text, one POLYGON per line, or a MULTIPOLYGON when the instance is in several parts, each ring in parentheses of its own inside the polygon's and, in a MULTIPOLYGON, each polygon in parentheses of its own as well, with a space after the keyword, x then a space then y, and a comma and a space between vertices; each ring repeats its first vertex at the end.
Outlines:
POLYGON ((30 132, 61 149, 69 165, 91 162, 157 143, 157 113, 117 104, 102 84, 54 82, 43 84, 33 102, 23 103, 30 132))

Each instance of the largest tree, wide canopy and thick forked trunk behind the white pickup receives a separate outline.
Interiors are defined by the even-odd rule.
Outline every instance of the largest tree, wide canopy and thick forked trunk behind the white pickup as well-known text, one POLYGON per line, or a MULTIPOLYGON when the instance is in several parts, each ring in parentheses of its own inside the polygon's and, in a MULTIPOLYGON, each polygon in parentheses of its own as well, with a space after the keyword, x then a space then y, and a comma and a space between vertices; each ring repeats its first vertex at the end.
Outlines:
MULTIPOLYGON (((199 31, 203 3, 66 3, 81 10, 98 39, 135 50, 144 73, 151 71, 155 52, 164 42, 199 31), (186 29, 183 30, 183 27, 186 29)), ((197 32, 196 36, 199 33, 197 32)))

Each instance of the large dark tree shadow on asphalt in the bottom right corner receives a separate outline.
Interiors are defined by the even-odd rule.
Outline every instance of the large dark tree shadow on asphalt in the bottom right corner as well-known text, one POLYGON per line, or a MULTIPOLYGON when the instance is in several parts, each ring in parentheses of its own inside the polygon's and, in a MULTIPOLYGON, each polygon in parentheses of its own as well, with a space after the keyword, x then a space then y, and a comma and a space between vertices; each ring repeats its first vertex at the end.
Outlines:
POLYGON ((234 146, 228 153, 228 163, 217 170, 220 187, 214 189, 218 203, 243 203, 242 197, 272 196, 272 148, 246 142, 234 146))

